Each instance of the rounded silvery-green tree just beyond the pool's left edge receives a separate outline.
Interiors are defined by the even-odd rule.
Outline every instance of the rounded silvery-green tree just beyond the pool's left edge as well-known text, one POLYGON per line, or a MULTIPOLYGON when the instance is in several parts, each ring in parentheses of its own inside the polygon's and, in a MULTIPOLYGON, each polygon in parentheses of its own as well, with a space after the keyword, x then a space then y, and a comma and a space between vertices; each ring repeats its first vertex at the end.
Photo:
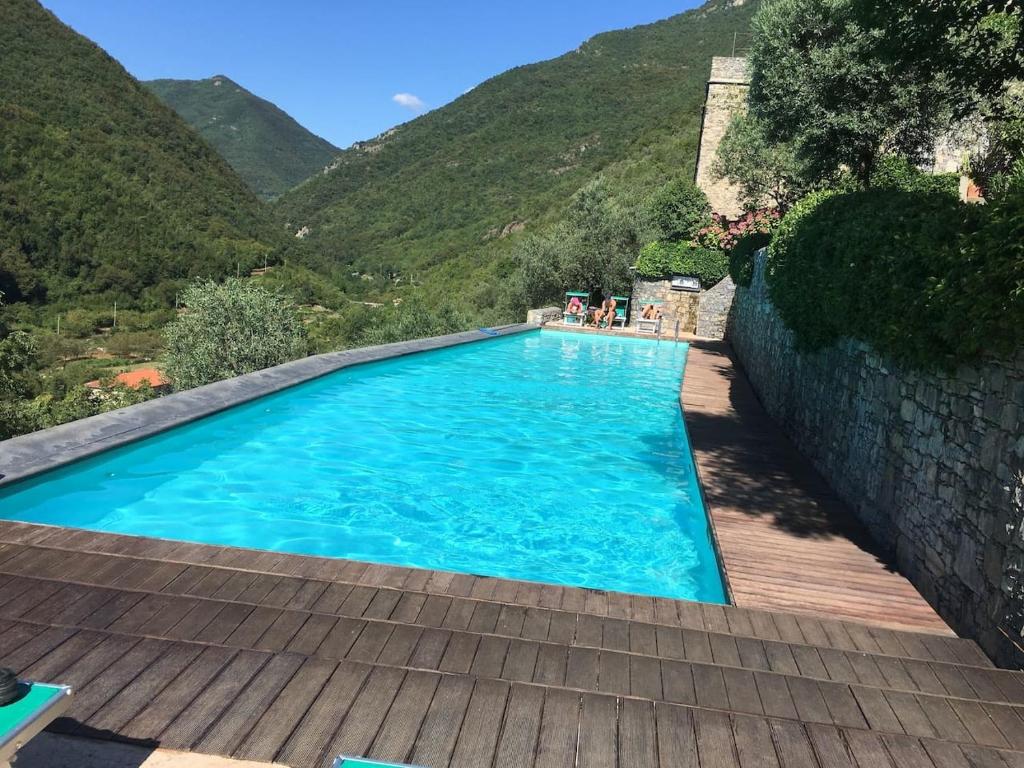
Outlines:
POLYGON ((294 305, 253 281, 198 282, 186 310, 165 330, 167 374, 188 389, 276 366, 305 354, 294 305))

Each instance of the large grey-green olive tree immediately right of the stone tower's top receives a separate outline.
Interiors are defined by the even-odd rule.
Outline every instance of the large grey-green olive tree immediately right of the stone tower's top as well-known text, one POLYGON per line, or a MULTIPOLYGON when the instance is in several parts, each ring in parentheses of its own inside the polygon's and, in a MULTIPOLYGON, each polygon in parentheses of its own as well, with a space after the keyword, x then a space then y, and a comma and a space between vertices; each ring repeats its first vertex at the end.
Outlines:
POLYGON ((952 113, 927 60, 890 54, 868 2, 775 0, 754 17, 751 113, 815 178, 846 166, 866 185, 885 153, 924 160, 952 113))

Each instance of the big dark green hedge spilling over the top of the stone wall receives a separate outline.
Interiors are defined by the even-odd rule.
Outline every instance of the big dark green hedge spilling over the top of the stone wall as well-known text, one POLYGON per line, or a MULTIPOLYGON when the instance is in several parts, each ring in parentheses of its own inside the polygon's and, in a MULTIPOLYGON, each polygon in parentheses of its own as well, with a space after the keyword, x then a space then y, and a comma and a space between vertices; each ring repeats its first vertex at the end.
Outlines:
POLYGON ((842 337, 899 362, 953 368, 1024 342, 1024 194, 813 195, 769 247, 771 298, 798 345, 842 337))

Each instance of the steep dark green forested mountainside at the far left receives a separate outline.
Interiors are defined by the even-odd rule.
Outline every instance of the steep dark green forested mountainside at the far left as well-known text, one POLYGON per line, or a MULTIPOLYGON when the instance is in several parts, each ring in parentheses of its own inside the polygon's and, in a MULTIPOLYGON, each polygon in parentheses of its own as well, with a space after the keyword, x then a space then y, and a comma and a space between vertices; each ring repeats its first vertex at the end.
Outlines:
POLYGON ((0 0, 0 291, 165 305, 285 246, 199 135, 35 0, 0 0))

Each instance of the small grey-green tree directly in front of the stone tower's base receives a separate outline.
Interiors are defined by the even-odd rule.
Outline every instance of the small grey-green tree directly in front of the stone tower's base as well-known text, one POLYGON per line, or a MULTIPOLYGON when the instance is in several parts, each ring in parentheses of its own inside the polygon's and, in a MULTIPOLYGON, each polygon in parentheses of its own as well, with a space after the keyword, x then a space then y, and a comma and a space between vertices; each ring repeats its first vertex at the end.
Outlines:
POLYGON ((794 145, 770 141, 764 123, 749 114, 732 118, 712 172, 738 184, 740 205, 748 211, 766 207, 784 211, 811 188, 794 145))

